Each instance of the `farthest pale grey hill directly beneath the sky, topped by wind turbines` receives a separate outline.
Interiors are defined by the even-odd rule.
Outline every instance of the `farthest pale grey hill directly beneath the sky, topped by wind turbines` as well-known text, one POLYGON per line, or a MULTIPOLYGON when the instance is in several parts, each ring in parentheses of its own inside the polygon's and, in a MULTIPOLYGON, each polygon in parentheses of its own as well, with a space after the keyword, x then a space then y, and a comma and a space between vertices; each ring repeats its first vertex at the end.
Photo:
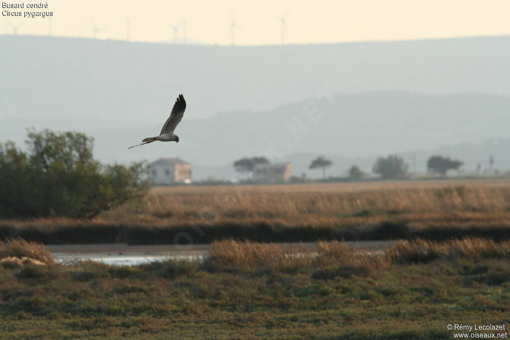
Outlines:
POLYGON ((336 93, 510 95, 509 36, 225 47, 4 35, 0 50, 9 116, 157 121, 178 93, 189 118, 336 93))

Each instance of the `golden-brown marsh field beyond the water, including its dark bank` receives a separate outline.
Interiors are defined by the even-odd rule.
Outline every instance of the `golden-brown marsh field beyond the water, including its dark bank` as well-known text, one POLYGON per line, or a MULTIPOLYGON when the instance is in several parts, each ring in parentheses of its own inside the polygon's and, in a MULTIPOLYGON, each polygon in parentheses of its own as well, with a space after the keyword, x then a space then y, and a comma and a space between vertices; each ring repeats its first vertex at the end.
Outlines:
POLYGON ((43 243, 505 239, 510 181, 376 181, 154 188, 93 220, 0 221, 0 237, 43 243))

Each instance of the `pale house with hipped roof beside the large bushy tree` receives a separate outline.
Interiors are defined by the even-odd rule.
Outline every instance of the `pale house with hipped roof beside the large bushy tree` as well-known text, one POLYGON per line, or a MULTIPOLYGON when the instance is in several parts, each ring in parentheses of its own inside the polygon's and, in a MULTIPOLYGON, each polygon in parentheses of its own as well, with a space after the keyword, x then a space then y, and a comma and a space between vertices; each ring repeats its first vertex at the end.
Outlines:
POLYGON ((160 158, 149 166, 149 178, 156 185, 191 182, 191 164, 179 158, 160 158))

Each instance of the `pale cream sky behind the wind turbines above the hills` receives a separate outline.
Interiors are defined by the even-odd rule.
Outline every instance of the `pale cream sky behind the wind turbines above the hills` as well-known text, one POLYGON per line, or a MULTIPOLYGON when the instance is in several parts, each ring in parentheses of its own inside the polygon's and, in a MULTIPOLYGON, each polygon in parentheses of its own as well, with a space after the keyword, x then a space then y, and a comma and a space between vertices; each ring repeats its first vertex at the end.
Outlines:
MULTIPOLYGON (((21 2, 5 1, 10 4, 21 2)), ((24 2, 40 3, 40 2, 24 2)), ((281 22, 286 19, 285 42, 335 43, 347 41, 409 40, 510 34, 509 0, 353 0, 353 1, 224 1, 224 0, 49 0, 48 9, 9 11, 53 11, 47 18, 0 16, 0 34, 93 37, 125 40, 126 18, 133 17, 133 41, 172 41, 173 29, 187 21, 188 42, 230 45, 230 27, 235 22, 236 45, 281 43, 281 22)), ((2 9, 5 11, 6 9, 2 9)), ((4 13, 4 12, 3 12, 4 13)))

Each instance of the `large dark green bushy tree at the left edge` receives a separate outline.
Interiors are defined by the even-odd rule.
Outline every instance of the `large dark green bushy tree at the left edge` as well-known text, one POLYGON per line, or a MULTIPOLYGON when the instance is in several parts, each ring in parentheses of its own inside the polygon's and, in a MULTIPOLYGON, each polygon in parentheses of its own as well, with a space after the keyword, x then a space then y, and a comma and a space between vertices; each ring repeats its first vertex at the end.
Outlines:
POLYGON ((148 187, 142 163, 102 165, 84 134, 30 131, 28 152, 0 144, 0 217, 91 218, 148 187))

